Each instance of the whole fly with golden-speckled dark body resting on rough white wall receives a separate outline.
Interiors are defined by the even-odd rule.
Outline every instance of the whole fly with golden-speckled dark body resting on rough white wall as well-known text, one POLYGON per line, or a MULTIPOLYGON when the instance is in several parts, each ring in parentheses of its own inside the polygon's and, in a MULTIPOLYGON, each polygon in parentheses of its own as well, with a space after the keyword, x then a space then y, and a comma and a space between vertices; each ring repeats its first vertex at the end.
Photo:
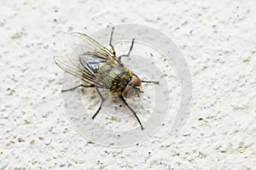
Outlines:
POLYGON ((137 118, 141 128, 143 124, 138 118, 136 111, 134 111, 130 105, 127 104, 125 99, 139 96, 143 93, 142 82, 159 84, 159 82, 143 81, 135 73, 129 70, 122 63, 122 57, 129 57, 131 49, 133 48, 135 39, 131 41, 131 47, 127 54, 122 54, 119 57, 116 56, 115 50, 112 45, 113 30, 111 31, 111 37, 109 46, 111 48, 105 48, 99 42, 96 42, 93 38, 79 32, 74 32, 73 36, 78 37, 82 42, 77 44, 83 49, 83 53, 79 55, 77 60, 67 59, 71 65, 66 65, 65 61, 60 57, 54 57, 55 64, 62 70, 67 71, 75 77, 79 77, 83 83, 74 88, 62 90, 62 92, 73 90, 75 88, 96 88, 96 93, 101 98, 101 104, 96 113, 91 117, 94 119, 96 115, 101 111, 102 105, 105 101, 103 95, 99 91, 99 88, 108 89, 111 94, 117 94, 124 104, 129 108, 133 115, 137 118))

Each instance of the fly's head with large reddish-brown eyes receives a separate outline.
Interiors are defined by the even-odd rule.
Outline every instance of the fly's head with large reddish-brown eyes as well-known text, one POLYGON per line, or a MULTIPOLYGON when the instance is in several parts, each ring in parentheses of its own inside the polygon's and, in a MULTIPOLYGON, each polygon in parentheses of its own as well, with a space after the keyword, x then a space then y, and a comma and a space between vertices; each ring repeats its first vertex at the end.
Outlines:
POLYGON ((140 93, 143 93, 142 81, 139 77, 132 77, 131 81, 126 85, 122 95, 125 98, 131 98, 139 96, 140 93))

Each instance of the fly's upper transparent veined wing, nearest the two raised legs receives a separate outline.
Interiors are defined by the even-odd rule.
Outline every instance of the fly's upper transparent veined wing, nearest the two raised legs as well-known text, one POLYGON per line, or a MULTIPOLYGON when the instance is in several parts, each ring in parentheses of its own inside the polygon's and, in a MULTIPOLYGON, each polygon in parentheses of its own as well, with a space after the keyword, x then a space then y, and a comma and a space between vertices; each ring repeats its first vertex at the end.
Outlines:
POLYGON ((77 46, 82 48, 84 54, 94 55, 100 59, 105 59, 114 63, 118 63, 118 58, 108 48, 105 48, 93 38, 80 33, 73 32, 73 39, 77 46))

